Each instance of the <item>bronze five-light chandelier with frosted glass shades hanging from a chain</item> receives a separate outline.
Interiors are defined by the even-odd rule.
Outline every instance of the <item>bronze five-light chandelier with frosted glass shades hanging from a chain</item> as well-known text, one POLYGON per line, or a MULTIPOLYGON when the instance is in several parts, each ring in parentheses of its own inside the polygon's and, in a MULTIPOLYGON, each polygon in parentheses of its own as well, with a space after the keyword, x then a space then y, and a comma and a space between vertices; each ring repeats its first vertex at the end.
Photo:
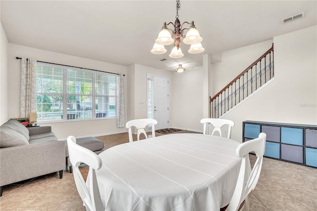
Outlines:
POLYGON ((180 21, 178 19, 179 9, 180 9, 180 2, 179 0, 176 0, 175 23, 172 23, 172 22, 169 22, 168 24, 166 24, 166 22, 163 23, 163 27, 161 31, 159 32, 158 39, 155 40, 155 44, 153 46, 153 49, 151 50, 152 53, 155 53, 155 54, 165 53, 166 49, 164 48, 164 46, 175 43, 171 53, 169 54, 169 57, 172 57, 172 58, 183 57, 184 54, 182 53, 182 50, 179 48, 181 44, 181 40, 180 40, 181 37, 184 38, 183 42, 185 44, 191 45, 188 51, 189 53, 201 53, 205 51, 205 49, 203 48, 201 44, 201 42, 203 41, 203 38, 200 36, 198 30, 196 29, 196 26, 194 25, 194 21, 192 21, 191 23, 185 21, 184 23, 180 24, 180 21), (189 28, 183 28, 183 25, 185 23, 190 25, 189 28), (174 29, 167 28, 167 25, 169 24, 171 24, 174 27, 174 29), (186 35, 184 34, 184 30, 188 30, 186 35))

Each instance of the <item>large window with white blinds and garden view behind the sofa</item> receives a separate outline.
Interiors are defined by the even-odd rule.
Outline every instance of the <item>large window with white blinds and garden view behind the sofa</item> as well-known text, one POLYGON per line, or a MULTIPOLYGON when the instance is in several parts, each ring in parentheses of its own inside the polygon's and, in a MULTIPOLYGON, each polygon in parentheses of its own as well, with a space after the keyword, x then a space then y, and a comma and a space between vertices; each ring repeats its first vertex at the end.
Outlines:
POLYGON ((38 62, 37 120, 115 117, 116 75, 38 62))

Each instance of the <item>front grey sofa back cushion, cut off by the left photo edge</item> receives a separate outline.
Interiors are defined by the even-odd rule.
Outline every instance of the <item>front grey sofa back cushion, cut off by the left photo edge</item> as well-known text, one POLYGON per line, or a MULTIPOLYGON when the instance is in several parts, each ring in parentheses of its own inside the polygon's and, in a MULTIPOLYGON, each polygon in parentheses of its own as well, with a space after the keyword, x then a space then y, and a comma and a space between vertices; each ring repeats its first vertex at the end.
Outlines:
POLYGON ((10 128, 1 127, 0 136, 1 136, 0 148, 15 147, 15 146, 29 144, 25 136, 23 136, 22 134, 14 130, 11 130, 10 128))

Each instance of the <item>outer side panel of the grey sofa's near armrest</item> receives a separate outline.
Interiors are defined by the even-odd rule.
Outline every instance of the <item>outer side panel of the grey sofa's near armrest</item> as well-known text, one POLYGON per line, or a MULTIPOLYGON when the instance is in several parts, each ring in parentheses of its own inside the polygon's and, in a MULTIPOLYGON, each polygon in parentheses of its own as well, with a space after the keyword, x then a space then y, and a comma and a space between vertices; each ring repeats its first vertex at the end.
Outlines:
POLYGON ((65 169, 65 142, 0 149, 0 186, 65 169))

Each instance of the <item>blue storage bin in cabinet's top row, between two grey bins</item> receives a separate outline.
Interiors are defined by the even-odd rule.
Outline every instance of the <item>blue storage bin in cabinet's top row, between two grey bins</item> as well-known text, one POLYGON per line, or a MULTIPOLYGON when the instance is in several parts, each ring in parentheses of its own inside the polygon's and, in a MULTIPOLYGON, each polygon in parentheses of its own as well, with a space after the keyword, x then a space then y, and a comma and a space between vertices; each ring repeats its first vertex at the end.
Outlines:
POLYGON ((281 142, 285 144, 303 145, 303 129, 282 127, 281 142))

